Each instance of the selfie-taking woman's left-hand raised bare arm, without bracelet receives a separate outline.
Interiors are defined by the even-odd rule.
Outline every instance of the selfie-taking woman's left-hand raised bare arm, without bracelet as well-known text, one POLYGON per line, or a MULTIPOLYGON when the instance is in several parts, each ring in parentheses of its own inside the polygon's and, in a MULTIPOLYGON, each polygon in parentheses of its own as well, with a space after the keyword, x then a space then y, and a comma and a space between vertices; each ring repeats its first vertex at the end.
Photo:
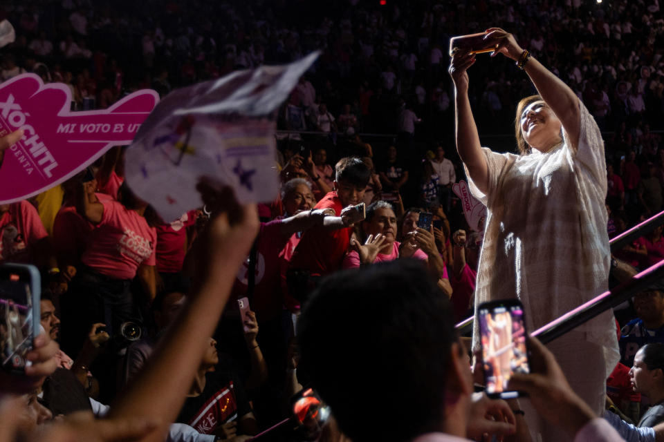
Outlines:
POLYGON ((486 193, 489 180, 488 166, 481 151, 477 126, 475 126, 468 99, 468 73, 466 70, 474 62, 474 55, 459 51, 452 55, 449 72, 454 82, 457 152, 463 164, 468 168, 472 181, 482 193, 486 193))

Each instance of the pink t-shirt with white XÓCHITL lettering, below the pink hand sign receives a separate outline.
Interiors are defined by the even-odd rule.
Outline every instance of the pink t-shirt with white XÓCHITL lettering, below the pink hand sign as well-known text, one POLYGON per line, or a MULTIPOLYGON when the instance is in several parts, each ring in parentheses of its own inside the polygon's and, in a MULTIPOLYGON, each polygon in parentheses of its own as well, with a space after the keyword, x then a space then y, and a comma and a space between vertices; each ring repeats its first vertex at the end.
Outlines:
POLYGON ((102 204, 102 221, 91 232, 81 261, 102 275, 133 279, 141 264, 156 263, 156 229, 117 201, 102 204))

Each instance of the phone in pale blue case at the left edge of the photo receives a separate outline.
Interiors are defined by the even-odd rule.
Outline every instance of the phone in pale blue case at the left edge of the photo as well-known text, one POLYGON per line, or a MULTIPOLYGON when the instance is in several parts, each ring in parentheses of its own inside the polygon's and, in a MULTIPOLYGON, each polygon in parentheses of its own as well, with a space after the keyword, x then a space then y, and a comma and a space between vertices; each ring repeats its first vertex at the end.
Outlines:
POLYGON ((0 265, 0 353, 2 368, 23 373, 39 334, 39 271, 33 265, 0 265))

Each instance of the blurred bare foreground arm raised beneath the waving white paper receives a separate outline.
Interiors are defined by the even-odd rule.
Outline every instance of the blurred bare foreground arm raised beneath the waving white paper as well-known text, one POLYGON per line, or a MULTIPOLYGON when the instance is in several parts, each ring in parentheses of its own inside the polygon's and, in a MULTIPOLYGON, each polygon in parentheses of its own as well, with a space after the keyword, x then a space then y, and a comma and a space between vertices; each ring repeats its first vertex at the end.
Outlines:
POLYGON ((163 432, 151 434, 150 441, 163 441, 165 424, 173 422, 180 411, 205 351, 206 340, 201 337, 212 336, 235 274, 258 232, 255 205, 240 206, 228 194, 219 194, 214 201, 226 202, 226 208, 232 209, 208 222, 202 238, 205 248, 200 262, 206 264, 197 278, 200 282, 145 367, 111 408, 111 417, 160 419, 163 432), (164 389, 166 384, 169 388, 164 389))

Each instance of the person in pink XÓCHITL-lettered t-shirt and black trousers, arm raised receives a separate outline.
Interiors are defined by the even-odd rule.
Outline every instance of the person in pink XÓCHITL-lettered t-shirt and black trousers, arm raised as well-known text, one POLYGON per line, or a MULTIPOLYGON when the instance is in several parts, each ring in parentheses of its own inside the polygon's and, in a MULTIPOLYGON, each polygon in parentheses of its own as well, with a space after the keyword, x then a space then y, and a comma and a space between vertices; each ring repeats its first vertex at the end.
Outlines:
MULTIPOLYGON (((138 299, 130 290, 131 281, 137 277, 145 301, 154 299, 156 281, 157 234, 144 215, 153 209, 147 202, 133 195, 126 184, 120 187, 120 201, 93 201, 93 182, 82 183, 77 198, 77 209, 94 225, 81 258, 81 266, 66 296, 62 299, 62 347, 75 358, 91 325, 105 324, 111 336, 120 333, 127 321, 140 320, 138 299)), ((117 346, 126 343, 116 343, 117 346)), ((109 350, 100 357, 100 368, 93 373, 100 378, 102 397, 109 398, 115 386, 115 353, 109 350), (105 381, 102 381, 102 379, 105 381), (104 391, 104 388, 108 390, 104 391)), ((94 367, 93 367, 94 368, 94 367)))

